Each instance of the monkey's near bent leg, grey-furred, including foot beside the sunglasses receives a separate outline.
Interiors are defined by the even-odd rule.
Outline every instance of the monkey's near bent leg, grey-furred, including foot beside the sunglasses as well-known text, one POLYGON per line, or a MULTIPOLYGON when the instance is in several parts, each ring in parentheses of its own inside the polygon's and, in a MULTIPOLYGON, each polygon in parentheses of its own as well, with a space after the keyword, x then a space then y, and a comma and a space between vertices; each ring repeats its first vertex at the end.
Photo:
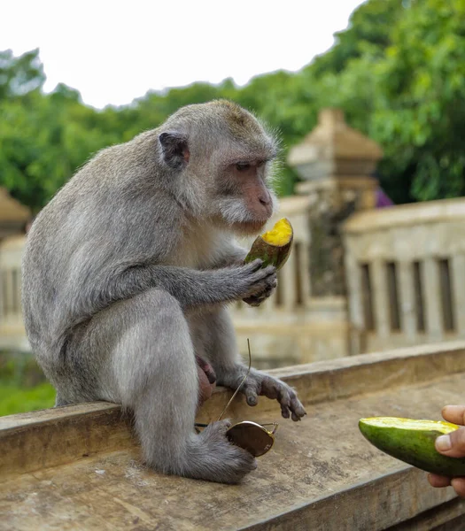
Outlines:
MULTIPOLYGON (((231 445, 229 422, 215 422, 197 435, 198 368, 180 304, 149 289, 99 312, 81 347, 101 356, 101 397, 135 413, 143 459, 163 473, 235 483, 256 467, 245 450, 231 445)), ((81 340, 82 341, 82 340, 81 340)))

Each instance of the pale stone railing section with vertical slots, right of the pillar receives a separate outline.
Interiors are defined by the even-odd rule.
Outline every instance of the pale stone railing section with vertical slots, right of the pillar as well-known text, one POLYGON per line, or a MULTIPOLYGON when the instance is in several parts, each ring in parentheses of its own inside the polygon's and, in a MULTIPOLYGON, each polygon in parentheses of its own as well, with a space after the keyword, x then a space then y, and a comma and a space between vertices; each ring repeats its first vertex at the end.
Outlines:
POLYGON ((465 338, 465 199, 345 223, 353 354, 465 338))

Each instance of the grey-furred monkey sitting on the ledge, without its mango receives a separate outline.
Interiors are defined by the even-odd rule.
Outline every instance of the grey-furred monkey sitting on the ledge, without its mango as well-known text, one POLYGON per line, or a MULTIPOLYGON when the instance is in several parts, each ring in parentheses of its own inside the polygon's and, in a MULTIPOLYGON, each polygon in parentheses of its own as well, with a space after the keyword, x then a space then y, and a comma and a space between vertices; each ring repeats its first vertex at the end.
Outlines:
MULTIPOLYGON (((275 153, 237 105, 184 107, 98 153, 27 237, 27 335, 57 404, 109 400, 134 411, 143 458, 162 472, 234 483, 256 466, 228 443, 227 422, 195 434, 195 354, 236 388, 245 367, 224 306, 261 302, 276 280, 260 260, 242 263, 234 235, 259 231, 272 205, 261 184, 260 202, 231 168, 262 161, 251 182, 266 182, 275 153)), ((276 398, 284 417, 305 414, 286 384, 258 371, 244 393, 251 405, 260 394, 276 398)))

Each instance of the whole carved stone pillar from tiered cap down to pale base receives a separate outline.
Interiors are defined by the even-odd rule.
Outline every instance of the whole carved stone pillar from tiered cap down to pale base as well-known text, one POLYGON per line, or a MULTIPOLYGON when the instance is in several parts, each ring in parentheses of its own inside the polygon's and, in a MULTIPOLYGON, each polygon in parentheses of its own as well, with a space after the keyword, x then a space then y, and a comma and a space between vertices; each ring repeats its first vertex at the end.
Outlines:
POLYGON ((355 353, 350 346, 341 227, 353 212, 376 206, 373 177, 381 148, 347 126, 339 109, 323 109, 317 126, 291 149, 289 164, 309 200, 309 361, 355 353))

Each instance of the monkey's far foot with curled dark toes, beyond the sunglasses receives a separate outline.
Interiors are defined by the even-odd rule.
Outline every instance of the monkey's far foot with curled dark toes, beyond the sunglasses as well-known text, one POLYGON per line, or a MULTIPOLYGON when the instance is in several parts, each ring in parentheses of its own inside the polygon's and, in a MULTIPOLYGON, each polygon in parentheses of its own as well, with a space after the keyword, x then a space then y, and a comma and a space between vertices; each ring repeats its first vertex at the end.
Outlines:
MULTIPOLYGON (((221 379, 219 378, 218 383, 236 390, 244 378, 247 368, 241 365, 236 366, 236 369, 232 374, 229 373, 221 379)), ((251 370, 247 380, 244 381, 241 392, 244 393, 249 405, 257 405, 259 396, 267 396, 267 398, 277 400, 281 405, 281 414, 284 419, 291 417, 297 422, 306 415, 306 410, 298 400, 294 389, 287 383, 255 369, 251 370)))

